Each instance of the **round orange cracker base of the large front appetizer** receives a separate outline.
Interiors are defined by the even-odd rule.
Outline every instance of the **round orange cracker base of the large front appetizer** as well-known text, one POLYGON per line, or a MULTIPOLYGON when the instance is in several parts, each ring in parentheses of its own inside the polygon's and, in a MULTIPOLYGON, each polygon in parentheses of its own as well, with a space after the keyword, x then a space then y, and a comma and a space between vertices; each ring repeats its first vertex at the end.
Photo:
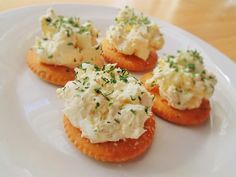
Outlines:
POLYGON ((154 138, 155 120, 153 116, 145 122, 144 127, 146 132, 138 139, 90 143, 87 138, 81 137, 80 129, 74 127, 64 116, 64 128, 70 141, 84 154, 103 162, 125 162, 142 155, 150 147, 154 138))

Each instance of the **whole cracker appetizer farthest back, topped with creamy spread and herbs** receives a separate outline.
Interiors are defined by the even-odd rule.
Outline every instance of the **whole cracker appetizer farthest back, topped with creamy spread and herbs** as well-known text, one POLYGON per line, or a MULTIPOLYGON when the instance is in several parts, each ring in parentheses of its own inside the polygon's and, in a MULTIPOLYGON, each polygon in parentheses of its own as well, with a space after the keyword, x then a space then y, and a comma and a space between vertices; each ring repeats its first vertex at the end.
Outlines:
POLYGON ((102 41, 103 57, 108 63, 129 71, 146 71, 155 67, 156 50, 164 40, 158 26, 142 13, 126 6, 110 26, 102 41))

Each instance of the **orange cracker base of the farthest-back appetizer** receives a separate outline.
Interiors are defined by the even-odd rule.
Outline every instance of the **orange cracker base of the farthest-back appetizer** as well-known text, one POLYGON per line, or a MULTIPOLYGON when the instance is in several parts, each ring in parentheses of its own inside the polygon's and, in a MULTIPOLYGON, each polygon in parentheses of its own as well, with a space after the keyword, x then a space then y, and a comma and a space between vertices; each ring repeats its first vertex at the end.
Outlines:
POLYGON ((127 69, 129 71, 147 71, 156 66, 157 54, 155 51, 151 51, 149 58, 144 61, 135 55, 125 55, 119 53, 116 49, 112 48, 107 40, 102 42, 103 57, 108 63, 117 63, 120 68, 127 69))

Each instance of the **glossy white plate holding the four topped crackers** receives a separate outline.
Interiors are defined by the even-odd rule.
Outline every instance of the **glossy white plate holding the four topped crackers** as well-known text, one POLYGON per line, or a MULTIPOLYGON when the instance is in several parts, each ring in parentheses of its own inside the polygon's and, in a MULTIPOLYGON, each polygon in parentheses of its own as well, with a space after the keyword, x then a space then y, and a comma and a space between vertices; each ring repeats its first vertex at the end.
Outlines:
POLYGON ((58 14, 92 20, 104 35, 117 10, 78 4, 35 6, 0 14, 0 176, 235 176, 235 64, 202 40, 155 20, 166 44, 160 54, 198 49, 218 84, 210 121, 182 127, 157 118, 151 149, 124 164, 106 164, 77 151, 63 130, 62 102, 55 86, 33 74, 26 51, 39 34, 38 18, 52 7, 58 14))

